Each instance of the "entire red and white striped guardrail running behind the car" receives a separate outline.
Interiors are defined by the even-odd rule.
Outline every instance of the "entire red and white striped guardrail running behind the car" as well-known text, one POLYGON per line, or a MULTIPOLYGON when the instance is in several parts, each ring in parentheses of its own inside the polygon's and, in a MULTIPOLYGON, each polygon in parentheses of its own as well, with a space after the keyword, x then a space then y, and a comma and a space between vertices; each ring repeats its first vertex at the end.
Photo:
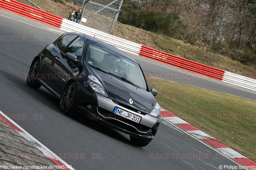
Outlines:
POLYGON ((196 74, 256 91, 256 80, 254 79, 246 78, 244 76, 216 69, 204 64, 196 63, 175 55, 164 53, 162 51, 134 43, 132 41, 127 41, 14 0, 0 0, 0 8, 24 16, 26 18, 39 21, 41 23, 60 28, 61 30, 67 32, 84 33, 85 35, 97 38, 115 46, 116 48, 135 55, 140 55, 183 70, 188 70, 196 74))

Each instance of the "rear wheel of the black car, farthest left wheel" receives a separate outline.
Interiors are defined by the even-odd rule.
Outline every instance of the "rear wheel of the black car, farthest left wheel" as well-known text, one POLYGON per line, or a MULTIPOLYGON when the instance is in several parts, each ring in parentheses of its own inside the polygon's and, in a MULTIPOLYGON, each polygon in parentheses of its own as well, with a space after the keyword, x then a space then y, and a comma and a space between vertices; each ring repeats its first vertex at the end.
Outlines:
POLYGON ((40 59, 36 59, 30 66, 28 76, 27 76, 27 85, 33 89, 38 89, 41 87, 41 84, 37 81, 37 73, 40 68, 40 59))

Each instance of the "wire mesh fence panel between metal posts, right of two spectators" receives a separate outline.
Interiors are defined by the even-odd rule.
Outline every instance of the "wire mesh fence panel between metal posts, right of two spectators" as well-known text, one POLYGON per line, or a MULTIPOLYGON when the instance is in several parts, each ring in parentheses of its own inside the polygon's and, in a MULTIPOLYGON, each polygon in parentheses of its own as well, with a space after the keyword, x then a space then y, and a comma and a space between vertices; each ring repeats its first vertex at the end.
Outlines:
MULTIPOLYGON (((67 0, 75 5, 83 8, 81 0, 67 0)), ((86 18, 86 23, 82 25, 97 29, 99 31, 110 33, 112 24, 119 14, 122 0, 90 0, 85 3, 83 18, 86 18)))

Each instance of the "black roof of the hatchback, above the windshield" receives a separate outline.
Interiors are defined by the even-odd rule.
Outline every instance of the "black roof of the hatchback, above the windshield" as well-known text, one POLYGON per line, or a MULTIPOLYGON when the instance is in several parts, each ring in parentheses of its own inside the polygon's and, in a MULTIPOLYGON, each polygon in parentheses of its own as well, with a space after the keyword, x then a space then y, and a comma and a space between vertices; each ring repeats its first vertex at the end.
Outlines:
POLYGON ((100 46, 103 46, 105 48, 108 48, 108 49, 110 49, 110 50, 112 50, 112 51, 114 51, 114 52, 116 52, 116 53, 118 53, 120 55, 123 55, 124 57, 126 57, 126 58, 128 58, 128 59, 130 59, 130 60, 132 60, 132 61, 134 61, 136 63, 138 63, 132 56, 126 54, 122 50, 120 50, 120 49, 118 49, 118 48, 116 48, 116 47, 114 47, 112 45, 109 45, 109 44, 107 44, 107 43, 105 43, 103 41, 100 41, 100 40, 98 40, 96 38, 92 38, 92 37, 90 37, 88 35, 84 35, 83 33, 76 33, 76 32, 70 32, 70 33, 65 33, 65 34, 76 34, 76 35, 79 35, 80 37, 83 37, 84 39, 87 39, 89 42, 91 42, 93 44, 100 45, 100 46))

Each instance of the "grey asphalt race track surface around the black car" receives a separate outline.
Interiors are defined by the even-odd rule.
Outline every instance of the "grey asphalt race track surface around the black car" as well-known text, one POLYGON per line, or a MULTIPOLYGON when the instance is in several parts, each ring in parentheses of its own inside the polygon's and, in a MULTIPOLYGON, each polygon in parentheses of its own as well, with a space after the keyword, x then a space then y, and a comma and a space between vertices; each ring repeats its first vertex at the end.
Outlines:
MULTIPOLYGON (((128 135, 85 116, 71 118, 63 115, 59 111, 59 100, 50 92, 43 87, 34 90, 26 85, 34 56, 63 32, 4 10, 0 10, 0 21, 0 110, 76 170, 212 170, 219 169, 220 165, 238 166, 164 120, 155 139, 141 148, 133 145, 128 135)), ((191 74, 140 56, 134 57, 148 75, 191 74)), ((187 80, 176 76, 172 81, 256 100, 255 92, 202 76, 187 80)))

